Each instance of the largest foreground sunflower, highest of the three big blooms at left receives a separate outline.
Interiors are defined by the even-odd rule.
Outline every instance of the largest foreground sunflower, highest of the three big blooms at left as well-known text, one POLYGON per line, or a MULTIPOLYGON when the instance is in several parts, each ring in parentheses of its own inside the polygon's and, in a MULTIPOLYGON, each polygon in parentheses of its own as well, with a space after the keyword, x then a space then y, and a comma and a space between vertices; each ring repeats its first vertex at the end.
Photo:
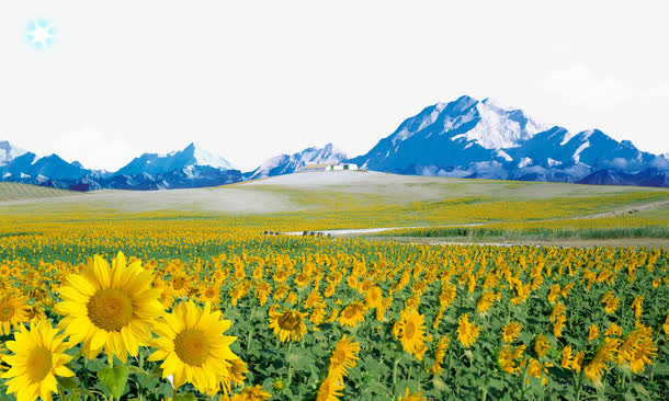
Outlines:
POLYGON ((151 287, 152 274, 136 261, 126 267, 122 252, 109 263, 95 255, 81 274, 70 274, 60 287, 64 299, 54 307, 65 316, 58 323, 70 342, 83 341, 82 351, 94 359, 104 348, 111 358, 123 363, 127 354, 137 355, 139 345, 148 345, 151 326, 162 312, 160 289, 151 287))

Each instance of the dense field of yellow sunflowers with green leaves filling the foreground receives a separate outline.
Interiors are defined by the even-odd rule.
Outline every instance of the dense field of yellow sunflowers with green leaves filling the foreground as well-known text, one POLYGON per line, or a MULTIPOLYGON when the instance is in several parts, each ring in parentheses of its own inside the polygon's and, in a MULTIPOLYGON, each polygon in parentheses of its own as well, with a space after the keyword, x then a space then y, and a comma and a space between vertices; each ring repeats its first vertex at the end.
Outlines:
POLYGON ((59 227, 0 236, 0 400, 669 398, 664 250, 59 227))

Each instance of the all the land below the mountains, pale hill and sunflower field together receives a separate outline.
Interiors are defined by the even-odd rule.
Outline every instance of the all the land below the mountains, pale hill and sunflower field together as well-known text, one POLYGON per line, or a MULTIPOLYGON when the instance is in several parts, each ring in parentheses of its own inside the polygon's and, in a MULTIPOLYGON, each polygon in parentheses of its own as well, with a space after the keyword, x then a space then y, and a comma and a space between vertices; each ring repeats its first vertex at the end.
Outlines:
POLYGON ((354 172, 3 200, 0 400, 667 399, 668 211, 354 172), (370 227, 405 228, 262 233, 370 227))

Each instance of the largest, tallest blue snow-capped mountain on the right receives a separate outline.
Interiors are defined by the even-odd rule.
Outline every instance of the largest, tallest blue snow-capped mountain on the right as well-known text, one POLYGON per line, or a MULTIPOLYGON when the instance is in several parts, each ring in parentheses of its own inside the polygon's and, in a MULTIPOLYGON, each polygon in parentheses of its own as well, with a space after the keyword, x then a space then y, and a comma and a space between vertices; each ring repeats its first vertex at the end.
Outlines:
POLYGON ((466 95, 426 107, 350 161, 401 174, 525 181, 577 182, 602 169, 632 174, 619 180, 627 185, 669 175, 666 158, 642 152, 627 140, 619 142, 598 129, 547 129, 521 110, 466 95), (642 179, 647 174, 654 177, 642 179))

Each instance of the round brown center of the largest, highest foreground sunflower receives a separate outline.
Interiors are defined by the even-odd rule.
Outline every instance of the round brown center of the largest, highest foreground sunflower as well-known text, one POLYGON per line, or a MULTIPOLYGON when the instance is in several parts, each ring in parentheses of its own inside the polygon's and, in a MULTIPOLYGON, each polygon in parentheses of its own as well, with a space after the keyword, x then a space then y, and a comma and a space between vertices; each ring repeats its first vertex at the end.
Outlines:
POLYGON ((116 288, 98 290, 89 300, 87 308, 91 322, 106 331, 120 331, 131 321, 135 311, 129 295, 116 288))

